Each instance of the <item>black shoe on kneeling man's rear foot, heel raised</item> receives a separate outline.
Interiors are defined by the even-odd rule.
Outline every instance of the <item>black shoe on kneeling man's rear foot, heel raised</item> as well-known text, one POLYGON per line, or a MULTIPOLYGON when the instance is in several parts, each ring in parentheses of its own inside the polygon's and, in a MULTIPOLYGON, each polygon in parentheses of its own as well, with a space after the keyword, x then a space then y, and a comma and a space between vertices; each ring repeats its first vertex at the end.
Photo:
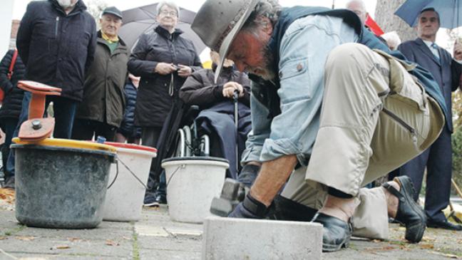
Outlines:
POLYGON ((395 219, 406 226, 404 237, 411 243, 419 243, 426 229, 426 214, 424 209, 413 199, 414 184, 407 176, 396 177, 394 181, 400 184, 400 191, 388 183, 384 183, 382 186, 399 199, 395 219))

